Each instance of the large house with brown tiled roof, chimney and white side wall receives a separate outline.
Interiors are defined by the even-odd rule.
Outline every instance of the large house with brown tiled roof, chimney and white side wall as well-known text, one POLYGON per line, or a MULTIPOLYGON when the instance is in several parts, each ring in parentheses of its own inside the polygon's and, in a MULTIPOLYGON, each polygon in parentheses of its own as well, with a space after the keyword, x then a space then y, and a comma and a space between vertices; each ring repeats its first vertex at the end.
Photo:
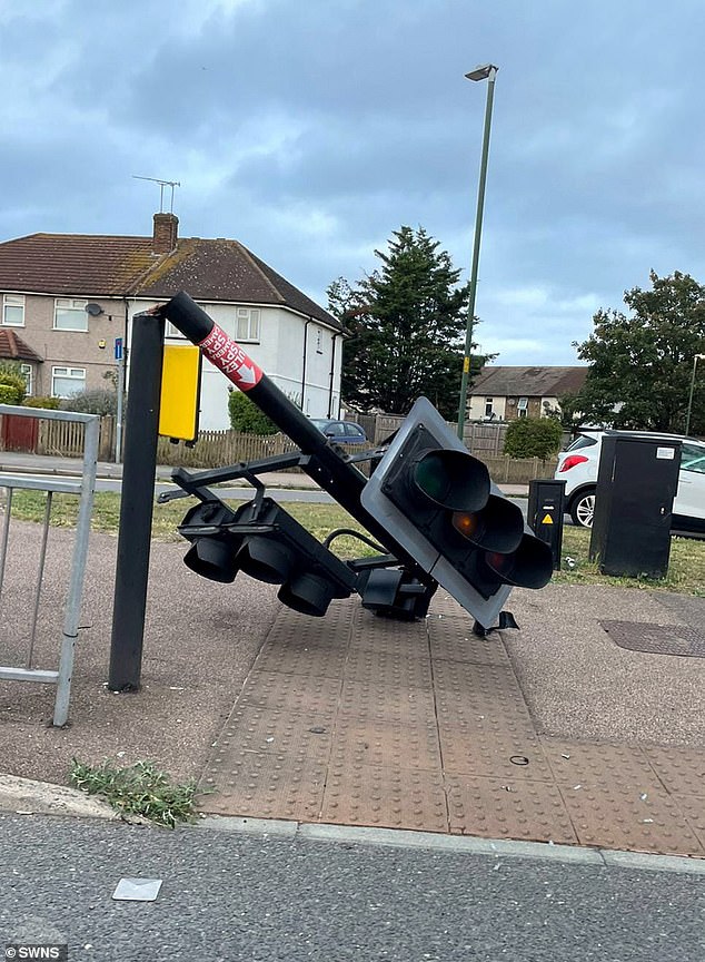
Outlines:
MULTIPOLYGON (((239 242, 180 238, 178 223, 160 213, 150 237, 31 234, 0 243, 0 357, 22 363, 34 395, 106 387, 133 315, 185 289, 306 414, 337 418, 340 323, 239 242)), ((183 340, 170 325, 166 337, 183 340)), ((228 386, 205 361, 201 429, 229 426, 228 386)))

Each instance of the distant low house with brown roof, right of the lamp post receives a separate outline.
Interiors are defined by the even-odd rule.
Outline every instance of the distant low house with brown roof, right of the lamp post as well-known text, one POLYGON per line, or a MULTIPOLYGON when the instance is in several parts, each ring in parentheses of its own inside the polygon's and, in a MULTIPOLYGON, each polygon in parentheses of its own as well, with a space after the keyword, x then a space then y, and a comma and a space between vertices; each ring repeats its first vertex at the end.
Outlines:
POLYGON ((563 394, 579 391, 587 367, 502 367, 488 365, 469 394, 470 421, 544 418, 559 408, 563 394))

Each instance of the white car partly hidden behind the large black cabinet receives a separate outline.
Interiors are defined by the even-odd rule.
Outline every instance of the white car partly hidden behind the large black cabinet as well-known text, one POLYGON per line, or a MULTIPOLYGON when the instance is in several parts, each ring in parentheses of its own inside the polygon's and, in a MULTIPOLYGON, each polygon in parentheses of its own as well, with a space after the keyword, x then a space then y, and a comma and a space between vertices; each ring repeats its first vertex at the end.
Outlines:
MULTIPOLYGON (((648 431, 624 432, 644 438, 671 436, 682 441, 678 490, 673 502, 674 531, 705 533, 705 443, 677 434, 653 434, 648 431)), ((566 482, 566 511, 574 524, 593 527, 597 468, 604 431, 584 430, 558 455, 554 478, 566 482)))

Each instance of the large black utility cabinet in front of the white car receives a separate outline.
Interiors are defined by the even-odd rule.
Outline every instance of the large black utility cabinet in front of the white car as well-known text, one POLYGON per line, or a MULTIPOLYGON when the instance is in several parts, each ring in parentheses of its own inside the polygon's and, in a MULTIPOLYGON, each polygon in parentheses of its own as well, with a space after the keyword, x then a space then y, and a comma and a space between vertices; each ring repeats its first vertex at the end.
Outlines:
POLYGON ((666 576, 679 468, 673 438, 605 434, 589 551, 603 575, 666 576))

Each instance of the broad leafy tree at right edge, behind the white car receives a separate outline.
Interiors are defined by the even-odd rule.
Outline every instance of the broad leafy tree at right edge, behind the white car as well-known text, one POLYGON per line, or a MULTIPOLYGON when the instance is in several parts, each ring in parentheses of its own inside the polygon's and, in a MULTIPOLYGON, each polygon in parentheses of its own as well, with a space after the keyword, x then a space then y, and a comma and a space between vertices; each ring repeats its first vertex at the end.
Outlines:
MULTIPOLYGON (((630 311, 598 311, 578 356, 589 363, 570 399, 584 420, 615 428, 685 430, 693 359, 705 354, 705 287, 688 274, 659 277, 652 289, 626 291, 630 311)), ((691 429, 705 433, 705 387, 694 393, 691 429)))

